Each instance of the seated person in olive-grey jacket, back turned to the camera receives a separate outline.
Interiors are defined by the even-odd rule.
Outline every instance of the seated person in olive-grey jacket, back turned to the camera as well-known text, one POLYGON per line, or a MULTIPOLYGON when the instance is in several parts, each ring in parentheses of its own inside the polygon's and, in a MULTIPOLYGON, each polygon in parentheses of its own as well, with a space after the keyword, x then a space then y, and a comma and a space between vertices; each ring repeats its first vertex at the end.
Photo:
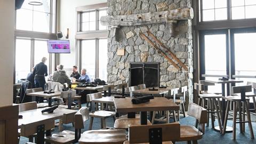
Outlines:
POLYGON ((63 65, 59 65, 59 69, 57 71, 54 71, 52 75, 52 81, 53 82, 59 82, 61 84, 68 83, 71 84, 71 81, 66 74, 66 71, 63 70, 63 65))

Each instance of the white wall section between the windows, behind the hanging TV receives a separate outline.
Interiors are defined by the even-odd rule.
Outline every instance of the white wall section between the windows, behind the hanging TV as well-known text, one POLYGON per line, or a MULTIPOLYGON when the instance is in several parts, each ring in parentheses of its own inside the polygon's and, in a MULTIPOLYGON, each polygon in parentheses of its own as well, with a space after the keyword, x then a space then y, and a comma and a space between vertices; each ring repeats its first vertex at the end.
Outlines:
MULTIPOLYGON (((64 65, 65 69, 70 69, 76 64, 76 7, 84 5, 92 5, 98 3, 106 3, 107 0, 61 0, 58 1, 59 5, 59 26, 63 35, 66 29, 69 28, 69 41, 71 53, 60 54, 60 63, 64 65)), ((65 37, 65 36, 63 36, 65 37)), ((70 72, 70 71, 67 71, 70 72)), ((69 74, 69 73, 68 73, 69 74)))

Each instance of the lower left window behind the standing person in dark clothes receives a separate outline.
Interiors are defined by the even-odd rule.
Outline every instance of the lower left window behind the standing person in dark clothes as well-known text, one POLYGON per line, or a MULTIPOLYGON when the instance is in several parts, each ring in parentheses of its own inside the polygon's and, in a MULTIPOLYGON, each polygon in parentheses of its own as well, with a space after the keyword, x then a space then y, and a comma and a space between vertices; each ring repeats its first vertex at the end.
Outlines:
POLYGON ((21 78, 26 78, 31 68, 46 57, 48 73, 50 73, 50 54, 47 42, 43 39, 17 38, 15 48, 15 83, 21 78))

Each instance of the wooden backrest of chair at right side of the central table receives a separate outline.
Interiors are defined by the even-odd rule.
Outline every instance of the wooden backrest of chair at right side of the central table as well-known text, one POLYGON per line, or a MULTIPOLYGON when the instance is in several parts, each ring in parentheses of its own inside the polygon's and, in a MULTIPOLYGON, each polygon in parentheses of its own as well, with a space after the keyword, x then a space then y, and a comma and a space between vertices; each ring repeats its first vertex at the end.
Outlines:
POLYGON ((199 124, 207 123, 207 110, 201 106, 196 105, 196 103, 189 103, 188 115, 196 118, 199 124))

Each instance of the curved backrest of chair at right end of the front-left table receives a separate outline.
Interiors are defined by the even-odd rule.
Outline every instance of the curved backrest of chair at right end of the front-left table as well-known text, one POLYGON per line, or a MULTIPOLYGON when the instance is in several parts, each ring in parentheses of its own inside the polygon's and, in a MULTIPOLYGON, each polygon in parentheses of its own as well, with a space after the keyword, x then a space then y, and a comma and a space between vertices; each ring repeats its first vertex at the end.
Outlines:
POLYGON ((84 129, 84 122, 89 118, 89 109, 83 107, 77 111, 75 114, 75 129, 84 129))

